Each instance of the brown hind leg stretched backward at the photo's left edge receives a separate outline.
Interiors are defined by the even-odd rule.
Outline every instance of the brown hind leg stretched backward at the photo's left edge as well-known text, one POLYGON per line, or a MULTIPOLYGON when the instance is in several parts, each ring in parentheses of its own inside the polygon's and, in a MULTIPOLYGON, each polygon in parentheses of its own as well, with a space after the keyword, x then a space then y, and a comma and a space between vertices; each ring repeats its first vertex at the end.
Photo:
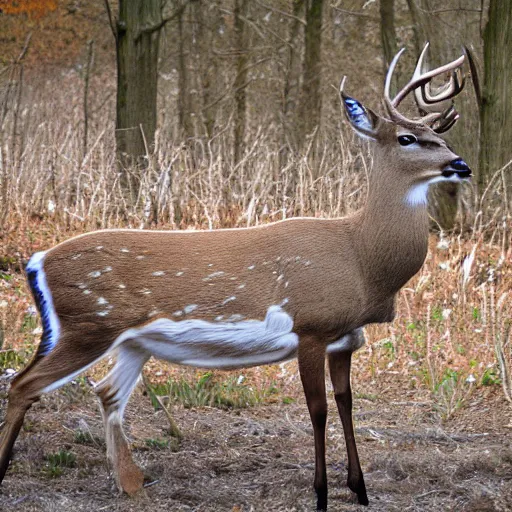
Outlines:
POLYGON ((0 435, 0 482, 3 480, 12 456, 12 449, 23 425, 25 414, 43 393, 66 384, 103 357, 103 344, 91 345, 91 350, 80 350, 72 337, 61 336, 48 355, 34 359, 14 379, 9 390, 5 422, 0 435))

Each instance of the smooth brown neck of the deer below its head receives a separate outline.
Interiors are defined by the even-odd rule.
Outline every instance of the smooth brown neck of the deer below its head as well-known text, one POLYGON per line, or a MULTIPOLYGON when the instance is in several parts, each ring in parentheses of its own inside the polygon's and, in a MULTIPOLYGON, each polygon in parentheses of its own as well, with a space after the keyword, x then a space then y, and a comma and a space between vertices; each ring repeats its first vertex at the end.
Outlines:
POLYGON ((428 247, 425 205, 410 206, 407 189, 370 183, 360 214, 361 254, 368 284, 383 294, 396 293, 421 268, 428 247))

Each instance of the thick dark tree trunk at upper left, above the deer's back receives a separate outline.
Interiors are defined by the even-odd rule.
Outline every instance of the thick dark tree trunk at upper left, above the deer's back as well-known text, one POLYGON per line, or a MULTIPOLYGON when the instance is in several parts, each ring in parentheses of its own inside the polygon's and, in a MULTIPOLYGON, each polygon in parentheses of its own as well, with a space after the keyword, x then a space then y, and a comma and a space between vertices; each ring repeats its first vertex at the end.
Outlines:
POLYGON ((154 148, 161 27, 160 0, 119 1, 116 145, 125 190, 133 185, 127 169, 144 168, 154 148))

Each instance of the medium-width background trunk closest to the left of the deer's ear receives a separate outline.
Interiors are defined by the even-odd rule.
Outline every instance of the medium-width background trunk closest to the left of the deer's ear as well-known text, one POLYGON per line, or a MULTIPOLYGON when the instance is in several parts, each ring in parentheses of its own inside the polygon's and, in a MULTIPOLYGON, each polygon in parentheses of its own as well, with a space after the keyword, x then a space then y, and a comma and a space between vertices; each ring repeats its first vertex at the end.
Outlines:
POLYGON ((300 109, 300 145, 320 125, 322 111, 322 7, 323 0, 308 0, 306 5, 305 54, 300 109))

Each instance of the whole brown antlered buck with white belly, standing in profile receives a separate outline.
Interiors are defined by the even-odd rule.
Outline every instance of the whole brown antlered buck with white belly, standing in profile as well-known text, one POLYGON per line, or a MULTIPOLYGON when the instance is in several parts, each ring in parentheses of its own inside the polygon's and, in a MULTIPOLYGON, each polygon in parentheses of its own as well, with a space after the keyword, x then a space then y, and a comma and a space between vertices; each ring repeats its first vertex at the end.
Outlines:
POLYGON ((364 325, 394 318, 395 295, 425 260, 428 186, 471 175, 438 135, 458 117, 451 98, 464 85, 464 56, 428 71, 426 46, 411 81, 391 99, 402 52, 386 77, 386 117, 340 88, 348 122, 373 146, 368 200, 354 215, 215 231, 97 231, 32 256, 26 273, 43 334, 10 387, 0 480, 29 407, 107 354, 117 353, 116 364, 96 391, 108 459, 130 495, 142 488, 143 473, 123 433, 123 411, 151 356, 221 369, 298 357, 314 430, 317 509, 325 510, 327 357, 348 487, 368 504, 352 424, 352 353, 365 343, 364 325), (432 86, 448 72, 444 86, 432 86), (410 92, 420 119, 397 109, 410 92))

